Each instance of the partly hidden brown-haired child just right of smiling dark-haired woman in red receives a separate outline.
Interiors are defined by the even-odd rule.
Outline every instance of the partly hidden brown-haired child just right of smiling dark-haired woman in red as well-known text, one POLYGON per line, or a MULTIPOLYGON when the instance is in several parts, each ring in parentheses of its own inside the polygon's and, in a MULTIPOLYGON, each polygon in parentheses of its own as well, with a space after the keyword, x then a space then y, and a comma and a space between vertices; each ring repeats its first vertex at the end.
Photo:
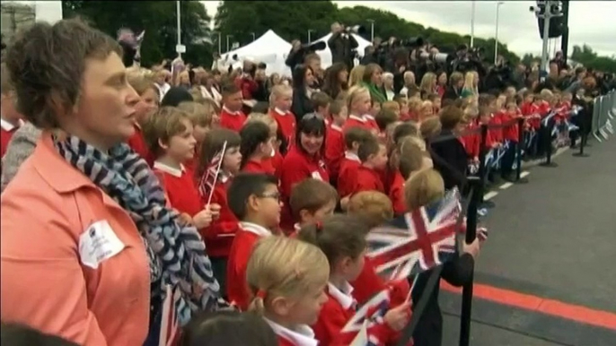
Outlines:
POLYGON ((374 139, 374 135, 363 127, 355 126, 348 127, 345 130, 344 137, 347 151, 344 153, 344 158, 340 160, 340 172, 338 184, 336 184, 340 198, 348 197, 353 193, 357 169, 362 164, 357 156, 357 150, 361 143, 374 139))

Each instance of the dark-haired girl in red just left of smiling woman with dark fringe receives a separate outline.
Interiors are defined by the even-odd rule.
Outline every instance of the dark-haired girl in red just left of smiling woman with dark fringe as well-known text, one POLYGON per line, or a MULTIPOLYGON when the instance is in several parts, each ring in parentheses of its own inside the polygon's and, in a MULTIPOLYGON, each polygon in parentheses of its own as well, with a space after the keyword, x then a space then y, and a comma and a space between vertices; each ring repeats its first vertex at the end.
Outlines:
POLYGON ((269 126, 252 120, 246 123, 240 131, 242 143, 242 171, 275 175, 276 170, 271 162, 276 134, 272 136, 269 126))

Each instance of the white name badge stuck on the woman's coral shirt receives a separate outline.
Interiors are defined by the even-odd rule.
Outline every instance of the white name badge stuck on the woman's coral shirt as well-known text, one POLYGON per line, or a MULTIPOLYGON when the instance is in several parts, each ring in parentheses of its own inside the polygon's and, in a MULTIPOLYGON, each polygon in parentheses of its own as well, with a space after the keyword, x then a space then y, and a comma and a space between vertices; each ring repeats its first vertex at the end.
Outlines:
POLYGON ((118 255, 126 247, 111 229, 109 222, 96 221, 79 236, 79 257, 93 269, 103 261, 118 255))

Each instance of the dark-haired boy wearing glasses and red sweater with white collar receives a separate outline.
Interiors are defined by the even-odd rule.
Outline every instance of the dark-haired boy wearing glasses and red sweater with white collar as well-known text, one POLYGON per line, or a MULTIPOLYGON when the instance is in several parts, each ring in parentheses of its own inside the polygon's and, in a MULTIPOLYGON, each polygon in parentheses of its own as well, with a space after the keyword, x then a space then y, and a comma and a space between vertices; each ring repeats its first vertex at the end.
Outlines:
POLYGON ((248 308, 246 266, 252 247, 272 234, 280 222, 280 193, 277 178, 267 174, 243 173, 229 186, 228 203, 240 228, 235 234, 227 264, 227 296, 242 310, 248 308))

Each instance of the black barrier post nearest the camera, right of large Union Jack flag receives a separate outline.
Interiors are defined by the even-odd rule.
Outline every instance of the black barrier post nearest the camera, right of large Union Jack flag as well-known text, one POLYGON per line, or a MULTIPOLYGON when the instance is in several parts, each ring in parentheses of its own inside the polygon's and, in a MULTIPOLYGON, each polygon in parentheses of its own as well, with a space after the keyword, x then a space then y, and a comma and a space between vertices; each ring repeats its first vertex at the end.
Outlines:
MULTIPOLYGON (((484 155, 485 157, 485 155, 484 155)), ((464 241, 471 244, 477 238, 477 209, 483 196, 483 179, 481 177, 470 177, 468 184, 471 186, 472 194, 469 196, 469 207, 466 210, 466 234, 464 241)), ((471 308, 472 308, 472 288, 473 275, 471 281, 462 288, 462 312, 460 314, 460 346, 469 346, 471 342, 471 308)))

